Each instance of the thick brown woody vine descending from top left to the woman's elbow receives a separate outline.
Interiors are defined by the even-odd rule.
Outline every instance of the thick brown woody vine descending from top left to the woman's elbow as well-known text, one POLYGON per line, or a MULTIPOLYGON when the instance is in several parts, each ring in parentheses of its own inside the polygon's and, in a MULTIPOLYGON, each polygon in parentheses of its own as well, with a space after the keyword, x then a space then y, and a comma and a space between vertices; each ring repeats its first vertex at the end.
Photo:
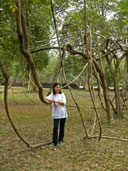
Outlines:
POLYGON ((20 42, 20 51, 26 58, 27 62, 29 63, 29 66, 31 68, 31 72, 33 75, 34 83, 36 84, 39 90, 40 100, 43 103, 47 103, 47 101, 45 100, 43 96, 43 86, 38 79, 38 75, 37 75, 36 68, 35 68, 35 63, 33 61, 32 54, 29 50, 27 26, 25 22, 24 13, 21 8, 20 0, 16 0, 16 6, 17 6, 17 9, 15 11, 15 14, 16 14, 17 33, 18 33, 18 38, 20 42))

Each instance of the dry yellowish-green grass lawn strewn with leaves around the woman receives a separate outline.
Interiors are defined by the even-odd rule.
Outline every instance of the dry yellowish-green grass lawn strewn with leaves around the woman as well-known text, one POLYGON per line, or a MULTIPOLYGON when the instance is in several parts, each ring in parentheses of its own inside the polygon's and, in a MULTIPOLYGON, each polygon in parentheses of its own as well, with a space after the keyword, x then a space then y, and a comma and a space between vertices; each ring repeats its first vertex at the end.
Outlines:
MULTIPOLYGON (((30 144, 46 143, 52 139, 53 123, 51 108, 42 104, 37 93, 26 93, 25 89, 9 91, 10 116, 20 134, 30 144)), ((46 95, 48 89, 44 89, 46 95)), ((2 92, 2 88, 0 89, 2 92)), ((67 104, 74 105, 68 90, 63 90, 67 104)), ((81 108, 87 128, 93 125, 94 110, 88 92, 73 90, 81 108)), ((102 135, 128 139, 128 112, 124 119, 107 124, 106 114, 96 106, 100 115, 102 135)), ((86 139, 76 108, 67 107, 68 119, 65 140, 57 147, 45 146, 29 149, 14 133, 5 114, 3 93, 0 93, 0 171, 127 171, 128 143, 117 140, 86 139)), ((99 132, 98 125, 94 134, 99 132)))

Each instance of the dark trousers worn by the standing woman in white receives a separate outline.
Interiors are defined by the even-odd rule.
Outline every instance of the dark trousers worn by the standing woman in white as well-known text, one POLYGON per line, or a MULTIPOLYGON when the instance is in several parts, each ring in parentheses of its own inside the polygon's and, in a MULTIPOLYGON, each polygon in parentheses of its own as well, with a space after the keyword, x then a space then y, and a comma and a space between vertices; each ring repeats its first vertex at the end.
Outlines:
POLYGON ((66 118, 54 119, 53 140, 52 140, 52 142, 55 145, 57 145, 58 141, 63 141, 65 121, 66 121, 66 118), (59 123, 60 123, 60 132, 59 132, 59 139, 58 139, 58 126, 59 126, 59 123))

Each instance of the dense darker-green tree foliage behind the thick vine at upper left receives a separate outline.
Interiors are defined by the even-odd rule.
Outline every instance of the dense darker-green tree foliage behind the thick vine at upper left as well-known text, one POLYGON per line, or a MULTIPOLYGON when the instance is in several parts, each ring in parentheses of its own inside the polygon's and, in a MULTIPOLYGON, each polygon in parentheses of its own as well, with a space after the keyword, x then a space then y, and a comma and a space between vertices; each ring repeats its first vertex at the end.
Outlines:
MULTIPOLYGON (((44 40, 43 43, 47 43, 50 35, 50 20, 48 19, 48 21, 45 22, 45 17, 48 17, 48 13, 46 16, 43 14, 43 11, 45 11, 46 6, 47 9, 49 9, 48 1, 27 0, 21 2, 23 3, 22 7, 28 26, 30 48, 32 49, 38 47, 39 45, 36 43, 38 40, 44 40), (41 5, 42 3, 44 6, 41 5)), ((2 12, 0 14, 0 56, 2 57, 4 67, 8 70, 9 74, 14 76, 16 73, 16 68, 24 58, 19 51, 19 40, 14 14, 16 6, 13 1, 5 2, 4 0, 0 2, 0 6, 2 8, 2 12)), ((33 55, 33 59, 36 64, 37 71, 43 71, 48 64, 48 52, 45 51, 33 55)), ((22 69, 21 72, 21 75, 23 75, 24 69, 22 69)))

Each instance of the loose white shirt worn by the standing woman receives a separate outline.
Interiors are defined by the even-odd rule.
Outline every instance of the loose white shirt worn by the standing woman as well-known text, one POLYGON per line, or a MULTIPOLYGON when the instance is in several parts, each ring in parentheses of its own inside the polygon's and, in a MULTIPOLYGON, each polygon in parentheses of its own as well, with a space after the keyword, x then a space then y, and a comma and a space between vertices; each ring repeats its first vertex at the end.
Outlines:
POLYGON ((66 110, 66 97, 64 93, 61 94, 50 94, 49 96, 47 96, 46 98, 50 99, 50 100, 56 100, 56 101, 61 101, 64 103, 64 105, 62 104, 58 104, 58 106, 56 107, 55 104, 52 102, 52 118, 53 119, 62 119, 62 118, 67 118, 67 110, 66 110))

